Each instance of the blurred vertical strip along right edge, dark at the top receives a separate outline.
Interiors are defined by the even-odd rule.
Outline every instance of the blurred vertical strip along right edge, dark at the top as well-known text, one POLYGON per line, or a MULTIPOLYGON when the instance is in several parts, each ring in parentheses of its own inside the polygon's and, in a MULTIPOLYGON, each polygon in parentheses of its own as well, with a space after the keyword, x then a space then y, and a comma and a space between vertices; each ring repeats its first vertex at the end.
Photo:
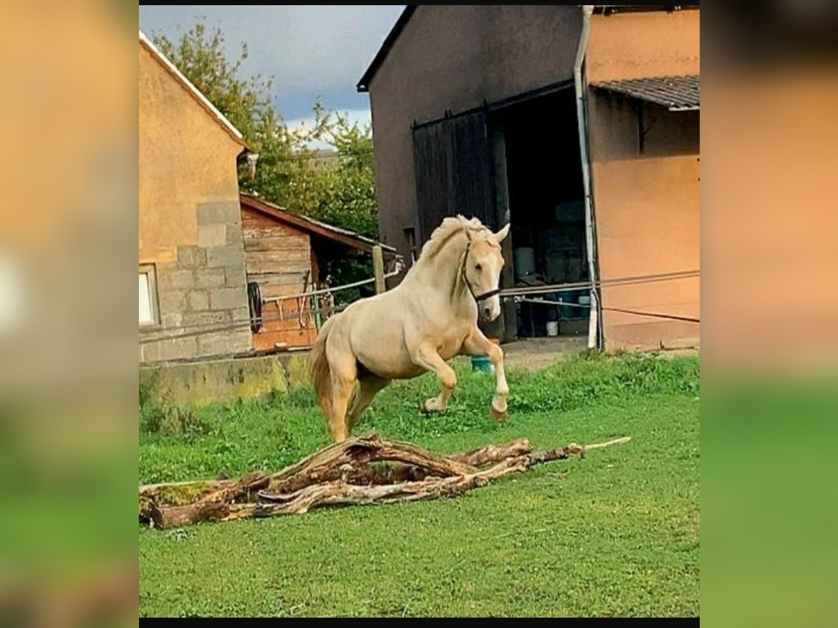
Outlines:
POLYGON ((832 623, 835 3, 708 8, 701 614, 832 623))

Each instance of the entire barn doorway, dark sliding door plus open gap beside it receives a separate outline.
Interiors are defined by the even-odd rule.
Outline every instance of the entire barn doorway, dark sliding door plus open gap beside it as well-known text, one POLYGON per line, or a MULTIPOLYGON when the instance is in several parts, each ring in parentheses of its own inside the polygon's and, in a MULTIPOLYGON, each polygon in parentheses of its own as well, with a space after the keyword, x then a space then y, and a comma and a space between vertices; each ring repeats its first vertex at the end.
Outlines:
MULTIPOLYGON (((509 221, 501 287, 587 281, 582 162, 572 84, 515 103, 485 104, 414 123, 416 224, 406 240, 427 241, 445 216, 476 216, 491 229, 509 221)), ((411 244, 411 248, 412 248, 411 244)), ((504 301, 483 331, 519 337, 584 335, 589 292, 551 291, 504 301), (535 301, 535 302, 533 302, 535 301)))

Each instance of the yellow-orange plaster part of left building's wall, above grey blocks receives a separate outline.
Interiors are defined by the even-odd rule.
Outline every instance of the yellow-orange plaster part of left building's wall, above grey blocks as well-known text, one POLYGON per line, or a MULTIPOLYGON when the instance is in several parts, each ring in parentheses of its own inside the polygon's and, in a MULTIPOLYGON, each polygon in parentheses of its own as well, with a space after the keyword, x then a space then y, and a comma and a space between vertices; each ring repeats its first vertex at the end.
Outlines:
POLYGON ((140 263, 198 243, 198 203, 238 203, 241 144, 139 46, 140 263))

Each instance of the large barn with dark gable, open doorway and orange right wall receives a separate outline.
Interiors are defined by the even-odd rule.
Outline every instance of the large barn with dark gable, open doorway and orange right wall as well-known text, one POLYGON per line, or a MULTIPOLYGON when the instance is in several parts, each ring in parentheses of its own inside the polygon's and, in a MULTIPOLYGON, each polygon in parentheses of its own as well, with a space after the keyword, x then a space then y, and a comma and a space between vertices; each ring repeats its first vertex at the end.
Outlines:
POLYGON ((697 346, 699 85, 697 6, 409 6, 358 83, 382 240, 511 222, 486 332, 697 346))

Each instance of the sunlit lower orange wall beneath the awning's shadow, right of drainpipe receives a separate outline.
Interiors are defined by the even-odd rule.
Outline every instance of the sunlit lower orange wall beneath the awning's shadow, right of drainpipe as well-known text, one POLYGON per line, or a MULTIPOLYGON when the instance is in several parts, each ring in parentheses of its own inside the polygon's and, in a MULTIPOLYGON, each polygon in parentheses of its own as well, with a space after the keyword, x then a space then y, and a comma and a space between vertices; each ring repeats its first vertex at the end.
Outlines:
MULTIPOLYGON (((599 269, 603 281, 700 268, 698 164, 692 156, 598 164, 599 269)), ((603 306, 699 317, 699 279, 603 288, 603 306)), ((604 311, 609 349, 693 344, 699 326, 604 311)))

